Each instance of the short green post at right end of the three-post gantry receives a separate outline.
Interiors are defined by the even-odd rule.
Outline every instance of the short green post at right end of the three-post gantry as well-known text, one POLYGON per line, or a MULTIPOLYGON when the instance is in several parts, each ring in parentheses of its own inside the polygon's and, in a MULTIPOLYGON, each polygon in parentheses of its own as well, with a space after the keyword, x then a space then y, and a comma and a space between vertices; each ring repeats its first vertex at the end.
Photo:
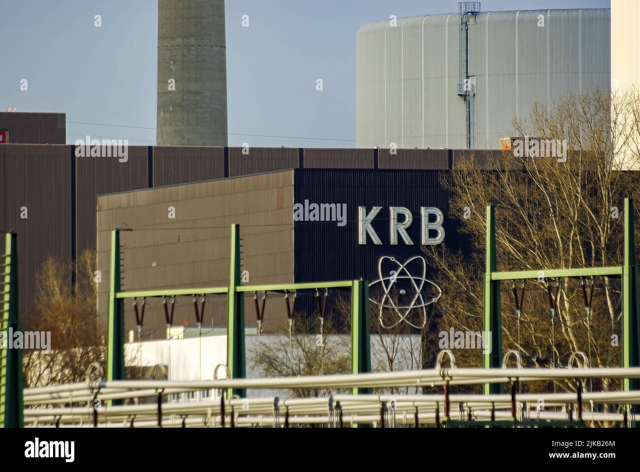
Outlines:
MULTIPOLYGON (((351 285, 351 374, 371 372, 369 284, 354 280, 351 285)), ((353 394, 371 393, 369 388, 353 388, 353 394)))

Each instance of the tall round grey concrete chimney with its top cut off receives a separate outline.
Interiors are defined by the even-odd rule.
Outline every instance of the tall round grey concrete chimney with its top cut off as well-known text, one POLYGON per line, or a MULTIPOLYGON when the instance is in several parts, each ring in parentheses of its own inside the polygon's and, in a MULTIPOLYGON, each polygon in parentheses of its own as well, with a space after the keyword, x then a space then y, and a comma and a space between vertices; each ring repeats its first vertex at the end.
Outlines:
POLYGON ((158 1, 157 144, 227 146, 224 0, 158 1))

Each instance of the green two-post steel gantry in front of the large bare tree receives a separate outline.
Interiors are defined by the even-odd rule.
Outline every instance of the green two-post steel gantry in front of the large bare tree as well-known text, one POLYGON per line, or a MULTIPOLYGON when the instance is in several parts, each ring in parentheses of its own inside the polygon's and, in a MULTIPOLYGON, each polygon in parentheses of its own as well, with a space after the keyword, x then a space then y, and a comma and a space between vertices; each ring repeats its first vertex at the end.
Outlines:
MULTIPOLYGON (((486 207, 486 265, 484 270, 484 332, 492 333, 492 349, 484 352, 485 368, 500 367, 502 363, 502 315, 500 313, 500 282, 503 280, 586 276, 622 277, 622 366, 640 366, 640 313, 638 312, 638 267, 634 238, 634 204, 625 198, 624 262, 616 267, 584 267, 578 269, 541 269, 540 271, 497 270, 495 250, 495 214, 486 207)), ((637 389, 637 379, 625 379, 625 391, 637 389)), ((502 384, 484 384, 484 393, 502 393, 502 384)))

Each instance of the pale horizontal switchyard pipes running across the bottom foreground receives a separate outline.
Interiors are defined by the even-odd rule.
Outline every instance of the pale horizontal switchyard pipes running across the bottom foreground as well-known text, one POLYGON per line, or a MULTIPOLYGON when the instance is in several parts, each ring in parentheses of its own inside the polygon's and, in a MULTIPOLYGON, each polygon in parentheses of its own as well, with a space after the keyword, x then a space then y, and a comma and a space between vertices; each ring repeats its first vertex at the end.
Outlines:
POLYGON ((451 394, 450 385, 518 384, 541 380, 640 378, 640 368, 456 368, 442 367, 380 374, 315 375, 211 381, 105 381, 25 390, 24 415, 33 427, 584 427, 598 421, 633 427, 640 417, 640 391, 575 393, 451 394), (352 394, 340 390, 443 386, 444 394, 352 394), (232 389, 316 388, 331 391, 312 398, 225 397, 232 389), (172 393, 217 389, 218 400, 166 403, 172 393), (97 402, 96 400, 100 400, 97 402), (109 405, 112 400, 129 404, 109 405), (145 402, 144 400, 157 400, 145 402), (584 411, 583 406, 591 406, 584 411), (621 411, 596 411, 595 405, 617 404, 621 411))

